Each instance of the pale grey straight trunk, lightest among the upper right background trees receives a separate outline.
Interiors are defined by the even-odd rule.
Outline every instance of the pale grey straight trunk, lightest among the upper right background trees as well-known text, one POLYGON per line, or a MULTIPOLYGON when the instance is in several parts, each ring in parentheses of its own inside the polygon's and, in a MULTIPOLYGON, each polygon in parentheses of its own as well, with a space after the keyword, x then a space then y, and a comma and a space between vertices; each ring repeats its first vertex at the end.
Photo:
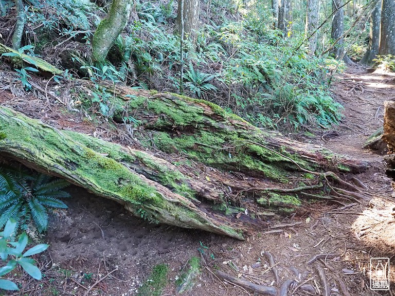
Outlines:
POLYGON ((309 57, 314 55, 315 49, 317 48, 317 27, 318 27, 318 13, 319 13, 319 0, 308 0, 307 1, 307 14, 306 14, 306 27, 304 29, 304 35, 308 38, 310 35, 309 42, 309 57), (313 34, 313 35, 312 35, 313 34))

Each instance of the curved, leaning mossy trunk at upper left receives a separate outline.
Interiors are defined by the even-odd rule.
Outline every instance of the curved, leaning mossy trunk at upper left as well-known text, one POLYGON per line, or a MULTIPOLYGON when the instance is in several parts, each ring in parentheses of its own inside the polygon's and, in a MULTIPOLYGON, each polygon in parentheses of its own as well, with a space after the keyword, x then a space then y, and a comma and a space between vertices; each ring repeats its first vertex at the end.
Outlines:
POLYGON ((106 17, 101 20, 92 40, 95 61, 103 62, 118 35, 125 28, 131 11, 131 0, 113 0, 106 17))

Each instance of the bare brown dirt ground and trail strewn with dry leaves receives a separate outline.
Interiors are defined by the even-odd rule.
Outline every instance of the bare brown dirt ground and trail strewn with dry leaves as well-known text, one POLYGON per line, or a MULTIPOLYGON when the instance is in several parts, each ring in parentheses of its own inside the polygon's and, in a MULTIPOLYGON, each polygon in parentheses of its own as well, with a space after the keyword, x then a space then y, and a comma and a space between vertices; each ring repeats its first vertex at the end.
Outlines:
MULTIPOLYGON (((153 266, 164 263, 169 266, 168 284, 161 295, 175 295, 176 278, 186 268, 188 259, 198 256, 202 258, 202 274, 193 290, 184 295, 252 295, 239 286, 219 281, 213 271, 230 270, 234 276, 243 276, 248 281, 276 285, 275 276, 267 270, 268 264, 261 255, 262 251, 268 251, 275 258, 281 282, 296 278, 298 282, 306 281, 318 289, 320 279, 315 268, 319 265, 326 273, 331 295, 393 296, 395 219, 391 213, 395 199, 391 197, 391 179, 385 174, 383 157, 363 150, 362 144, 382 126, 383 102, 395 100, 395 75, 368 73, 353 67, 338 77, 332 90, 336 100, 345 108, 342 124, 321 131, 316 137, 302 137, 339 154, 373 164, 371 170, 357 176, 367 187, 370 201, 348 205, 321 202, 308 214, 292 215, 281 221, 269 220, 270 226, 291 224, 278 228, 276 233, 257 231, 246 241, 236 241, 203 231, 149 224, 130 216, 116 202, 71 187, 72 198, 66 201, 69 206, 67 217, 53 219, 44 237, 50 248, 38 259, 45 278, 37 282, 17 273, 15 281, 22 284, 22 291, 9 294, 84 295, 89 285, 117 268, 89 295, 135 295, 153 266), (317 254, 329 256, 307 265, 317 254), (378 293, 369 289, 370 257, 391 257, 393 292, 378 293), (239 271, 231 266, 237 266, 239 271), (295 268, 300 275, 295 275, 295 268), (343 282, 345 285, 341 284, 343 282)), ((22 99, 13 93, 0 93, 0 103, 18 106, 22 99)), ((45 113, 40 112, 39 107, 32 107, 34 102, 28 103, 29 108, 26 104, 23 102, 19 106, 21 112, 25 110, 31 115, 27 110, 35 108, 37 112, 33 117, 45 120, 45 113)), ((58 126, 89 129, 85 123, 73 118, 58 116, 57 120, 58 126)), ((314 294, 299 289, 290 291, 289 295, 314 294)))

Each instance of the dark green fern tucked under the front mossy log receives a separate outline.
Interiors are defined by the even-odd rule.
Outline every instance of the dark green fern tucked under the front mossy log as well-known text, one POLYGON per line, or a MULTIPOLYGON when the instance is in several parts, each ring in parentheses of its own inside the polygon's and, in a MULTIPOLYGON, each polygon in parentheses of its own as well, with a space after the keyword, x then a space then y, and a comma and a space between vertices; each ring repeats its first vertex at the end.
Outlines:
POLYGON ((24 169, 1 169, 0 228, 10 218, 14 218, 17 230, 30 230, 29 224, 33 224, 39 233, 46 231, 48 209, 67 208, 60 198, 70 197, 63 191, 68 185, 65 180, 42 173, 31 174, 24 169))

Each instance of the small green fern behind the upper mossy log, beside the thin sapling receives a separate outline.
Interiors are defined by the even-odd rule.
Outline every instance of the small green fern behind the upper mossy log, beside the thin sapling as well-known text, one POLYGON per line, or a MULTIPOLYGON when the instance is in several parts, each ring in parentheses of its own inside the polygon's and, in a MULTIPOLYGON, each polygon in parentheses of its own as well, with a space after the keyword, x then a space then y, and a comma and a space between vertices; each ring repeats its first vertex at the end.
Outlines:
POLYGON ((189 64, 189 70, 186 70, 184 77, 188 80, 188 82, 185 83, 185 86, 199 98, 202 97, 202 93, 218 90, 217 87, 209 83, 211 80, 218 77, 218 74, 212 75, 195 71, 192 64, 189 64))

